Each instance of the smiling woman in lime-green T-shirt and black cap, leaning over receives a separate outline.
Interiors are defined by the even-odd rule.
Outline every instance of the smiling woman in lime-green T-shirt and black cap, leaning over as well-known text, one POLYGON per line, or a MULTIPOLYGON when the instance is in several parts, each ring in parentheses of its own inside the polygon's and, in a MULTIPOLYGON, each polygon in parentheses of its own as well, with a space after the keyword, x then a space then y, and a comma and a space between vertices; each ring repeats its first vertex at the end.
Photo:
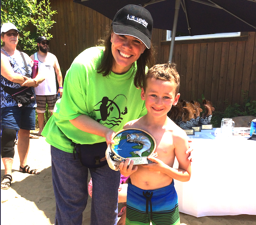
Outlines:
POLYGON ((125 6, 115 15, 104 47, 86 49, 67 71, 62 98, 42 132, 51 145, 55 224, 82 224, 88 168, 93 182, 90 224, 117 224, 120 172, 110 169, 105 158, 88 160, 102 167, 84 165, 94 152, 105 156, 112 135, 126 122, 146 114, 137 87, 154 64, 152 28, 149 11, 125 6))

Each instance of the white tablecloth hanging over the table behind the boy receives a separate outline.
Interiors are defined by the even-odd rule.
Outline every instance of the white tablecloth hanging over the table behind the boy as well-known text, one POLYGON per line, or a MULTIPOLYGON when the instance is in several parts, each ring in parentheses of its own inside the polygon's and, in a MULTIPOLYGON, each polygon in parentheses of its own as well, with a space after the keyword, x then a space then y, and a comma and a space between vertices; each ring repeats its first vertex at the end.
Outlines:
MULTIPOLYGON (((214 138, 214 130, 196 135, 205 137, 206 133, 214 138)), ((218 135, 216 139, 193 138, 192 144, 191 179, 174 180, 179 211, 195 217, 256 215, 256 141, 218 135)))

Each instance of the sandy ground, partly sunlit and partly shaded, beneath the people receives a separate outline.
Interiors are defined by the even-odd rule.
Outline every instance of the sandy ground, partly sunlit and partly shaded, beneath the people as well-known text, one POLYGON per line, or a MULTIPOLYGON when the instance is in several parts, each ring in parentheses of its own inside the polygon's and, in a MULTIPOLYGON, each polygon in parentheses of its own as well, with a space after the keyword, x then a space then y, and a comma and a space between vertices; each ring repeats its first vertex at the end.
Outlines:
MULTIPOLYGON (((1 224, 5 225, 53 225, 55 217, 55 198, 52 187, 50 145, 44 137, 30 139, 28 165, 41 170, 39 175, 18 172, 20 162, 15 145, 12 170, 12 186, 1 189, 1 224)), ((1 160, 1 177, 4 167, 1 160)), ((82 225, 90 224, 90 204, 83 213, 82 225)), ((122 207, 122 205, 120 205, 122 207)), ((255 225, 255 215, 214 216, 196 218, 180 213, 181 223, 187 225, 255 225)))

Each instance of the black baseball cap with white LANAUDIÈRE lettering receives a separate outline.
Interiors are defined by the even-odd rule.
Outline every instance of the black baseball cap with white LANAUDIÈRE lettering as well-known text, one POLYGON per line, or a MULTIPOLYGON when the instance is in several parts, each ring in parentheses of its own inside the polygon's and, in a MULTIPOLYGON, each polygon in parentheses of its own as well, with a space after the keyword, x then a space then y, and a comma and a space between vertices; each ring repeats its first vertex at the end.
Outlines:
POLYGON ((153 18, 146 8, 126 5, 115 14, 112 27, 115 34, 136 37, 150 48, 153 18))

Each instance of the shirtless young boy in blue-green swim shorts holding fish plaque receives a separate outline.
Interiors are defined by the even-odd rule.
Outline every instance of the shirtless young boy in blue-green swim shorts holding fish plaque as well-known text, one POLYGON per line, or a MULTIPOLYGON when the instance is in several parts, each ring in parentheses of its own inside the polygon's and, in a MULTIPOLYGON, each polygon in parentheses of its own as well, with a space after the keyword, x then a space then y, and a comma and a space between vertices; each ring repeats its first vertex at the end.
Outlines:
POLYGON ((141 98, 147 114, 125 124, 124 128, 140 128, 156 140, 156 158, 153 163, 133 166, 133 160, 120 163, 120 172, 130 176, 127 191, 126 225, 180 224, 177 193, 173 179, 186 182, 191 176, 190 161, 186 154, 188 138, 184 130, 167 117, 176 105, 179 92, 179 74, 174 63, 152 67, 143 82, 141 98), (177 157, 179 168, 172 168, 177 157))

